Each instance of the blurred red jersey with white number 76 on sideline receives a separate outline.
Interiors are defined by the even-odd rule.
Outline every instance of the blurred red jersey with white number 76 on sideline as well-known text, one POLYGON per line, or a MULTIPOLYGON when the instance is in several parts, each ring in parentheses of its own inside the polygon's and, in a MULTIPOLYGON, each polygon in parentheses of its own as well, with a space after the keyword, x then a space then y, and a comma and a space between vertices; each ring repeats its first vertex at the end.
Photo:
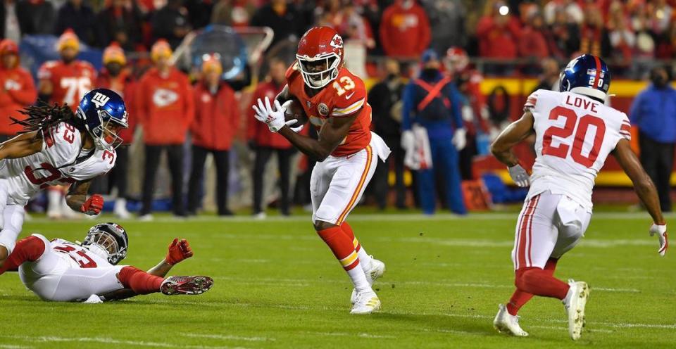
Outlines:
POLYGON ((48 61, 37 71, 37 78, 49 80, 54 87, 49 103, 68 103, 75 112, 80 99, 94 88, 96 70, 85 61, 48 61))

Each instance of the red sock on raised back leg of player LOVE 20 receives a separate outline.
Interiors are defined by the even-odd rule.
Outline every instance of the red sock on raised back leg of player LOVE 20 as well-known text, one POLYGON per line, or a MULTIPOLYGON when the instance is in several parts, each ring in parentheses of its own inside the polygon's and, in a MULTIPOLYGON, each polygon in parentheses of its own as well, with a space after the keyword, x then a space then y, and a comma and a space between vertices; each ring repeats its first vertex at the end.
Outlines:
POLYGON ((515 284, 520 291, 561 300, 570 288, 565 282, 553 277, 549 271, 537 267, 518 269, 515 284))

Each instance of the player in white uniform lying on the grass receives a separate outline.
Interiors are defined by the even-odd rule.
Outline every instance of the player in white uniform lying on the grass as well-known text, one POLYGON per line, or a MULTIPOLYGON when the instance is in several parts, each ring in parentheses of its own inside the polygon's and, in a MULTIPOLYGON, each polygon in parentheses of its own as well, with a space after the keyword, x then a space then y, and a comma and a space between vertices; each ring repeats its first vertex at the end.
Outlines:
POLYGON ((17 271, 23 284, 43 300, 100 303, 161 292, 200 294, 213 286, 210 277, 168 277, 178 262, 192 257, 188 241, 174 239, 167 256, 148 272, 117 265, 127 257, 127 232, 119 224, 96 224, 82 244, 48 241, 32 234, 16 243, 0 274, 17 271))

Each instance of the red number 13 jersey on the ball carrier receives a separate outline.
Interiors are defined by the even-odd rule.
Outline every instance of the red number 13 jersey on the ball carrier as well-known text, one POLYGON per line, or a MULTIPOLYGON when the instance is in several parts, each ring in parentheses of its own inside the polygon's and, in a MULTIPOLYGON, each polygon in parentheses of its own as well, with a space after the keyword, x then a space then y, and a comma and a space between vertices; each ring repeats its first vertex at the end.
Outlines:
POLYGON ((289 93, 301 102, 312 125, 321 129, 328 118, 356 116, 347 136, 331 153, 332 156, 348 156, 366 148, 371 141, 371 106, 366 101, 364 82, 347 68, 340 68, 338 77, 323 87, 318 94, 308 96, 305 82, 294 63, 287 70, 289 93))

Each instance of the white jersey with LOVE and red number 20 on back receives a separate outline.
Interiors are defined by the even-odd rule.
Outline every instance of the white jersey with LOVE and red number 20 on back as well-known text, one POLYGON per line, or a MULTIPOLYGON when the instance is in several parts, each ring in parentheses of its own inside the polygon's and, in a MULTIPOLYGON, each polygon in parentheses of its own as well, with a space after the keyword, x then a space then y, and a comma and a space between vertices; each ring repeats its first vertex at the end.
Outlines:
POLYGON ((592 189, 608 154, 631 139, 625 113, 572 92, 539 89, 527 99, 537 158, 528 198, 544 191, 570 197, 592 212, 592 189))

